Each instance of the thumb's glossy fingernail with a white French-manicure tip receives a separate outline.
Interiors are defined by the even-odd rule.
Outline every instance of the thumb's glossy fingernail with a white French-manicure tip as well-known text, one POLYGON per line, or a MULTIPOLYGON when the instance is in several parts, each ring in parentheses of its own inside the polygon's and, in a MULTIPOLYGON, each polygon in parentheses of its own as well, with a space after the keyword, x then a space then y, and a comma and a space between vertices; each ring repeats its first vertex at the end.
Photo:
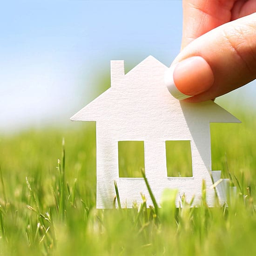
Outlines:
POLYGON ((200 56, 190 57, 171 66, 165 74, 166 86, 178 100, 207 91, 213 82, 212 69, 200 56))

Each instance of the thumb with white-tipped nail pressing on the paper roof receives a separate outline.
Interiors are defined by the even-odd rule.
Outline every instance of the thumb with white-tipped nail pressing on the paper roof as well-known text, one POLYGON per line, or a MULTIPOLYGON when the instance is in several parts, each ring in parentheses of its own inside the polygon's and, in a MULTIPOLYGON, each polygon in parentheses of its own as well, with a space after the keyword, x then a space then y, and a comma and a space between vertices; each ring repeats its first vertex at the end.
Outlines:
POLYGON ((189 95, 189 102, 214 99, 254 79, 256 13, 216 27, 192 41, 166 74, 170 93, 179 99, 189 95))

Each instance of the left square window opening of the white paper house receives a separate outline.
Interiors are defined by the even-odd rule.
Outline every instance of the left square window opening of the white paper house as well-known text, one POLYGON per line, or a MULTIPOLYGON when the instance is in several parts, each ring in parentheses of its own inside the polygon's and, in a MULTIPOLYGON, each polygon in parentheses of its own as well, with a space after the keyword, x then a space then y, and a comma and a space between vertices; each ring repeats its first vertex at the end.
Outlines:
POLYGON ((142 177, 144 166, 144 141, 118 141, 119 177, 142 177))

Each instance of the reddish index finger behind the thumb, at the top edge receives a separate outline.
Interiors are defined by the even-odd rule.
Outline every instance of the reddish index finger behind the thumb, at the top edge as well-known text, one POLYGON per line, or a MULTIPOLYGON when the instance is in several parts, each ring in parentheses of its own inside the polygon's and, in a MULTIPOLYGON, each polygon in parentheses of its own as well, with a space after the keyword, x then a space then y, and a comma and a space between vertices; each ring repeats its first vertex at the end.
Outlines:
MULTIPOLYGON (((183 0, 182 49, 211 29, 231 19, 235 0, 183 0)), ((239 6, 237 5, 237 9, 239 6)))

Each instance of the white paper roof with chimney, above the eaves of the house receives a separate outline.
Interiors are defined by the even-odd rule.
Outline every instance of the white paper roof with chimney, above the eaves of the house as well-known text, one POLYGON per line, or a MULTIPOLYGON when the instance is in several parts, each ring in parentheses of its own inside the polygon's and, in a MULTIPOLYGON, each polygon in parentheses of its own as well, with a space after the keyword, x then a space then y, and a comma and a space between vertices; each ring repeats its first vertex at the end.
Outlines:
MULTIPOLYGON (((152 120, 194 119, 209 122, 240 122, 213 101, 187 103, 175 99, 164 83, 168 69, 153 56, 148 56, 124 74, 123 61, 111 61, 111 88, 82 108, 72 121, 107 121, 143 118, 152 120)), ((178 124, 179 122, 177 122, 178 124)))

